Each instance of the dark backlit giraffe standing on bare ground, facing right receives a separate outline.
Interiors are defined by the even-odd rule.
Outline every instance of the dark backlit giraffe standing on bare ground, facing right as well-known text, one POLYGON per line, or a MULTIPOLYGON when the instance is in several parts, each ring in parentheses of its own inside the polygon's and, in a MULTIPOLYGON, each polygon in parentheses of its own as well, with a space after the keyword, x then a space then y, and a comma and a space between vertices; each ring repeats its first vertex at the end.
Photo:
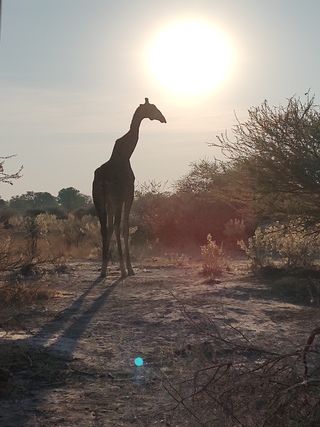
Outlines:
POLYGON ((113 231, 115 231, 118 246, 121 277, 126 277, 126 267, 128 275, 134 275, 128 242, 129 214, 134 197, 135 180, 130 157, 139 139, 140 124, 146 118, 166 123, 166 119, 158 108, 150 104, 148 98, 145 98, 145 103, 140 104, 133 114, 129 131, 116 140, 110 159, 94 172, 92 196, 100 221, 102 237, 101 277, 106 277, 113 231), (122 217, 125 263, 120 235, 122 217))

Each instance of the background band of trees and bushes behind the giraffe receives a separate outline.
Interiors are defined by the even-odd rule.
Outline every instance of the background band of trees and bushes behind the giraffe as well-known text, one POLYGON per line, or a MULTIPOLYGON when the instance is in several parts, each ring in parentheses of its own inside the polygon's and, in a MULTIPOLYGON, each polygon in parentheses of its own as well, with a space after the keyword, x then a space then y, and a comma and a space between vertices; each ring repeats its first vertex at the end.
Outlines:
MULTIPOLYGON (((255 269, 313 266, 320 231, 319 129, 313 98, 305 103, 291 98, 284 107, 265 102, 249 110, 230 139, 220 135, 213 144, 224 153, 223 161, 193 163, 170 188, 140 185, 131 215, 133 247, 204 248, 210 235, 220 252, 241 248, 255 269)), ((1 168, 3 182, 19 176, 8 177, 1 168)), ((57 197, 28 191, 0 206, 3 248, 17 245, 24 262, 48 259, 46 247, 53 257, 97 255, 90 196, 72 187, 57 197)))

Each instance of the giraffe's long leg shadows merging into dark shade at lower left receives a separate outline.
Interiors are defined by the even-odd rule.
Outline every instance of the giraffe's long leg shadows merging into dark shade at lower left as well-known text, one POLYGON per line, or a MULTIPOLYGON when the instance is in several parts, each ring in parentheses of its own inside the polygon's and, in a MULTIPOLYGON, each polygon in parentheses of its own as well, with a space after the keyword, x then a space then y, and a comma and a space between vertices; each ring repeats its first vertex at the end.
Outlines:
POLYGON ((5 363, 2 363, 1 368, 8 370, 10 377, 3 395, 0 387, 0 414, 3 412, 0 415, 1 425, 29 425, 27 421, 37 413, 52 388, 63 387, 68 381, 82 381, 70 370, 73 353, 93 317, 105 307, 121 279, 98 292, 88 305, 90 292, 103 281, 99 278, 92 282, 68 308, 40 328, 33 337, 16 341, 2 340, 0 359, 1 363, 5 363), (80 314, 75 318, 77 313, 80 314), (28 414, 24 404, 28 405, 28 414), (7 410, 8 405, 10 410, 7 410), (2 411, 2 408, 6 410, 2 411))

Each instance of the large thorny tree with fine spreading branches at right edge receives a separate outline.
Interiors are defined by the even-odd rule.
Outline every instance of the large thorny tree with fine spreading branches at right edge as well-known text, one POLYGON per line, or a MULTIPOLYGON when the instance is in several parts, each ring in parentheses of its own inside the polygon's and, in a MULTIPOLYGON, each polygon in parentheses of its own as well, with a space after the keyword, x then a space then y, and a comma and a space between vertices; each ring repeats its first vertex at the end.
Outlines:
POLYGON ((320 220, 320 109, 314 97, 271 107, 265 101, 238 121, 233 139, 218 136, 234 173, 235 193, 251 195, 256 207, 272 218, 320 220))

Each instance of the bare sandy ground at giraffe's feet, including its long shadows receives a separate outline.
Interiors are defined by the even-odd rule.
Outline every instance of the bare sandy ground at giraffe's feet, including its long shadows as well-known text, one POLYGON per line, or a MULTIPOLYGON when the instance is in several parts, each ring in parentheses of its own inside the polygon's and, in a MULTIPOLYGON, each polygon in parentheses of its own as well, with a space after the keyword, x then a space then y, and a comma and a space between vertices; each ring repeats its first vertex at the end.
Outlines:
POLYGON ((3 330, 1 426, 253 425, 201 424, 188 408, 176 415, 184 402, 170 387, 197 365, 258 363, 259 348, 294 352, 320 321, 318 308, 239 274, 210 282, 194 266, 150 265, 125 280, 111 268, 101 280, 98 270, 72 264, 47 309, 3 330))

